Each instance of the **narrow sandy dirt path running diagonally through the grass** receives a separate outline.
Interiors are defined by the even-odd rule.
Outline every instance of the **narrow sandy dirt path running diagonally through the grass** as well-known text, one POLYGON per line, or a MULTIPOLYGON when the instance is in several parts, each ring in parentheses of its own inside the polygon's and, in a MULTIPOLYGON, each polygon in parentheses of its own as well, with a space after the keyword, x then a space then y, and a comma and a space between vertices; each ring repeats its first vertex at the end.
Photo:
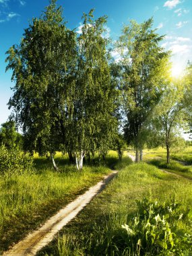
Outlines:
POLYGON ((117 171, 105 176, 103 181, 97 183, 94 187, 90 187, 84 195, 79 195, 77 199, 69 203, 66 207, 61 209, 55 216, 51 217, 45 224, 38 230, 32 232, 24 240, 14 245, 9 251, 5 252, 3 256, 17 255, 27 256, 36 255, 42 247, 50 243, 55 234, 63 228, 92 200, 92 198, 100 193, 106 185, 115 177, 117 171))

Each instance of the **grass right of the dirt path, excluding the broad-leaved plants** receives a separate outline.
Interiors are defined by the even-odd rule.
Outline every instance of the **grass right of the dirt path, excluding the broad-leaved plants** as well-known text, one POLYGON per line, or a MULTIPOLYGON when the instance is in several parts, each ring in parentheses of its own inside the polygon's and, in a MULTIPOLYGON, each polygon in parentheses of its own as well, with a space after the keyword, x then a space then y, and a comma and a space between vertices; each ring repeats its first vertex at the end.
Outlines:
MULTIPOLYGON (((161 205, 165 202, 179 202, 180 210, 188 211, 192 200, 191 181, 164 173, 151 164, 130 162, 125 158, 123 163, 117 164, 121 168, 117 178, 77 218, 67 224, 58 238, 38 253, 39 256, 158 255, 152 253, 152 249, 141 254, 136 252, 137 245, 125 242, 122 225, 133 225, 133 219, 139 211, 136 199, 142 200, 144 197, 158 201, 161 205)), ((174 223, 170 221, 170 226, 171 224, 174 229, 184 230, 192 235, 191 223, 187 220, 181 218, 174 223)), ((179 236, 177 238, 180 239, 179 236)), ((174 241, 176 245, 179 239, 174 241)), ((185 242, 179 244, 177 249, 183 245, 185 242)), ((185 255, 192 253, 190 248, 183 250, 185 255)))

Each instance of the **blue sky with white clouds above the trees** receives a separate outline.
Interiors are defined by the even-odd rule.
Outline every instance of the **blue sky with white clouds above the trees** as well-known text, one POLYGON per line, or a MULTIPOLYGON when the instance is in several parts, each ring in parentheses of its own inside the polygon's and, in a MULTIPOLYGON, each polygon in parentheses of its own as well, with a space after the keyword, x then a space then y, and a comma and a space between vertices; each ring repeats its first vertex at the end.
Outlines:
MULTIPOLYGON (((163 46, 172 50, 175 71, 192 61, 192 0, 58 0, 64 7, 64 17, 69 28, 81 26, 82 13, 94 8, 94 15, 108 15, 107 33, 113 40, 121 34, 123 24, 129 20, 143 22, 154 17, 154 28, 166 34, 163 46)), ((13 92, 10 87, 11 71, 5 73, 5 52, 19 44, 24 28, 32 18, 39 17, 47 0, 0 0, 0 124, 7 120, 10 111, 7 102, 13 92)), ((117 57, 116 53, 113 53, 117 57)))

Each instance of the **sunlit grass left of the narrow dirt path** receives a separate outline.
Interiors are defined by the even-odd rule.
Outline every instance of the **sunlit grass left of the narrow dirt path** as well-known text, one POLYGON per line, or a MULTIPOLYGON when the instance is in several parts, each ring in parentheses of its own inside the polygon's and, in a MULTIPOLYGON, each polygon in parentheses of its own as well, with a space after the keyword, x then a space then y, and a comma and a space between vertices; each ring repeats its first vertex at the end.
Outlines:
MULTIPOLYGON (((107 163, 116 156, 110 152, 107 163)), ((67 158, 59 153, 55 162, 61 172, 55 172, 46 158, 34 156, 34 162, 33 174, 0 177, 0 254, 110 172, 107 165, 85 166, 82 172, 63 167, 67 158)))

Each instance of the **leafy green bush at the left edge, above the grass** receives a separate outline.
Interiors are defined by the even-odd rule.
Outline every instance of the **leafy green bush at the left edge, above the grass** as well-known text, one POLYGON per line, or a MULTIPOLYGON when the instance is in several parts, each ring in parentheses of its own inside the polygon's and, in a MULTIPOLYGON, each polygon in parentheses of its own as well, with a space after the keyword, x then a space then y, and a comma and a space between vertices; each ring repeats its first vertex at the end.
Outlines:
POLYGON ((24 174, 32 172, 33 158, 18 147, 8 150, 0 146, 0 174, 24 174))

